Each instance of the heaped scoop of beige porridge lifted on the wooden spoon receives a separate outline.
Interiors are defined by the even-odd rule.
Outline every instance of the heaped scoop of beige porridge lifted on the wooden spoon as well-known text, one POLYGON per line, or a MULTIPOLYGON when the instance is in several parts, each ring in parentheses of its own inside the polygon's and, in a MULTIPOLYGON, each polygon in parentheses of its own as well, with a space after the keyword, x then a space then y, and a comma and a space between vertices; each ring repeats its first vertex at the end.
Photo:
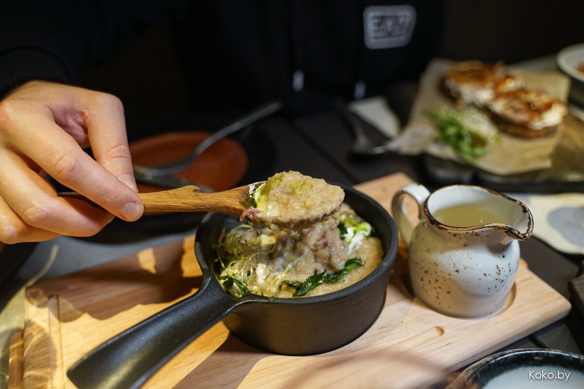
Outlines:
POLYGON ((254 206, 241 215, 257 227, 271 230, 297 230, 329 219, 345 199, 342 188, 286 171, 276 173, 265 183, 249 188, 254 206))

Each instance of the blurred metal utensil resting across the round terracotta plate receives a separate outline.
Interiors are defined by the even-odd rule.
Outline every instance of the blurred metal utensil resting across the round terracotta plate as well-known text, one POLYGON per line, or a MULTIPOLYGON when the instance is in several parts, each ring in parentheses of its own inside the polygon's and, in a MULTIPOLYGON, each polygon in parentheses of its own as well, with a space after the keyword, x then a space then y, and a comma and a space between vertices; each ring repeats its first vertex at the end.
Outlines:
MULTIPOLYGON (((173 174, 181 173, 182 171, 188 169, 189 166, 191 166, 193 162, 199 158, 204 150, 209 148, 219 139, 225 138, 225 136, 233 134, 234 132, 245 128, 256 121, 273 114, 274 112, 280 110, 283 106, 284 104, 280 100, 270 100, 267 103, 262 104, 251 112, 245 114, 242 117, 239 117, 237 120, 221 128, 219 131, 214 132, 203 142, 201 142, 192 153, 175 162, 156 167, 140 166, 134 164, 134 177, 136 181, 141 184, 163 186, 166 188, 174 188, 193 184, 201 188, 201 191, 205 191, 205 185, 183 180, 182 178, 173 176, 173 174), (178 186, 176 184, 178 184, 178 186)), ((207 189, 210 188, 207 187, 207 189)))

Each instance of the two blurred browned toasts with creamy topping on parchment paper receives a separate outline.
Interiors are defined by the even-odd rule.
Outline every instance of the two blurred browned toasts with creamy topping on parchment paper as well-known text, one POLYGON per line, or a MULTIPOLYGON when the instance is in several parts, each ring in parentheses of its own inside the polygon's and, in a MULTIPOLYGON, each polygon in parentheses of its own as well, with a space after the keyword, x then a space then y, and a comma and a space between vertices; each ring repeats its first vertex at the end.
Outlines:
POLYGON ((519 138, 550 135, 568 114, 564 103, 527 89, 500 63, 460 62, 446 72, 443 89, 458 105, 484 109, 501 131, 519 138))

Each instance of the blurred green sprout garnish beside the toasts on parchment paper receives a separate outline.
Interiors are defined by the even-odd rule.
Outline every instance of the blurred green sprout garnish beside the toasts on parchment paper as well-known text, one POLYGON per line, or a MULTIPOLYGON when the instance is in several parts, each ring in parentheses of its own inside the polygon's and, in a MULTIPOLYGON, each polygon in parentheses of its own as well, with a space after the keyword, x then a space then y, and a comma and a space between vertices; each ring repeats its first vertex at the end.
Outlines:
POLYGON ((442 108, 425 114, 436 125, 436 139, 452 146, 468 163, 477 162, 478 157, 485 155, 489 147, 500 140, 498 129, 476 108, 462 111, 442 108))

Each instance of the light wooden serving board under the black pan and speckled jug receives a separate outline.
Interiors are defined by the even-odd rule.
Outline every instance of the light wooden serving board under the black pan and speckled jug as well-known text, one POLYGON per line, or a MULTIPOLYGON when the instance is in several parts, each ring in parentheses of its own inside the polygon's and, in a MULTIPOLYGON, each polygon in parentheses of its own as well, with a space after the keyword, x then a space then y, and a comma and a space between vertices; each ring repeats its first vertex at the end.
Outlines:
MULTIPOLYGON (((390 209, 394 193, 409 182, 403 174, 393 174, 357 188, 390 209)), ((415 205, 409 206, 415 214, 415 205)), ((148 248, 28 288, 25 329, 11 348, 11 389, 74 388, 66 371, 82 355, 194 293, 201 272, 193 241, 188 237, 148 248)), ((412 377, 408 371, 448 372, 467 365, 564 317, 570 309, 564 297, 522 262, 505 311, 482 320, 444 316, 408 292, 405 255, 401 244, 385 307, 351 344, 315 356, 273 355, 244 344, 219 323, 144 387, 387 387, 398 377, 412 377)))

